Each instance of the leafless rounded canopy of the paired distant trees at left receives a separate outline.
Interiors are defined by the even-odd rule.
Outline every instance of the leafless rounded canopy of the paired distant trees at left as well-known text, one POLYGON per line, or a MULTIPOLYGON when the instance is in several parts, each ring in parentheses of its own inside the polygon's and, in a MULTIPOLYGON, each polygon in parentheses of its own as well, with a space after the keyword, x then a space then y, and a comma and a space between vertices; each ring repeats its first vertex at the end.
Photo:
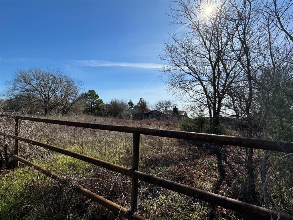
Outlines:
POLYGON ((8 85, 10 98, 29 100, 42 108, 45 114, 57 109, 66 114, 81 98, 83 83, 75 81, 59 69, 17 70, 8 85))

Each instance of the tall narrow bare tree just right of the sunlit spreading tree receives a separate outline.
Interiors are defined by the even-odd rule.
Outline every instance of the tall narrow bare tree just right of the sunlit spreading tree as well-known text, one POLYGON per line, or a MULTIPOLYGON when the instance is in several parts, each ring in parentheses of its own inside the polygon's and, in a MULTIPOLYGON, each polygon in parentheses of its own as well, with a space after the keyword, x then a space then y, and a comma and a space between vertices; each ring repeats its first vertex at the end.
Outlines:
MULTIPOLYGON (((257 59, 257 40, 258 40, 258 2, 230 0, 231 8, 235 13, 227 14, 227 19, 235 23, 235 40, 232 49, 234 58, 239 61, 242 71, 239 74, 238 81, 229 89, 228 95, 236 118, 247 121, 247 135, 250 138, 254 137, 253 133, 253 118, 251 107, 253 104, 253 77, 254 77, 254 60, 257 59)), ((229 107, 228 107, 229 108, 229 107)), ((246 149, 246 164, 247 164, 247 197, 246 200, 250 203, 256 203, 255 180, 253 169, 253 149, 246 149)))

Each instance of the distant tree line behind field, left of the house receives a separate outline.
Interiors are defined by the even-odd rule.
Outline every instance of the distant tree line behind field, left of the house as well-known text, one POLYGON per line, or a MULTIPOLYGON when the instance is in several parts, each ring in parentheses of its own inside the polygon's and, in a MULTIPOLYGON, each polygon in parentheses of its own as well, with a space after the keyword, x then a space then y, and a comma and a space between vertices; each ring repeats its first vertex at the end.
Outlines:
MULTIPOLYGON (((16 70, 11 81, 6 82, 7 91, 1 99, 6 111, 22 111, 28 114, 89 114, 115 118, 142 119, 149 110, 149 103, 140 98, 132 100, 112 99, 104 103, 93 89, 83 92, 83 82, 75 80, 60 69, 16 70)), ((160 100, 151 108, 168 110, 173 101, 160 100)))

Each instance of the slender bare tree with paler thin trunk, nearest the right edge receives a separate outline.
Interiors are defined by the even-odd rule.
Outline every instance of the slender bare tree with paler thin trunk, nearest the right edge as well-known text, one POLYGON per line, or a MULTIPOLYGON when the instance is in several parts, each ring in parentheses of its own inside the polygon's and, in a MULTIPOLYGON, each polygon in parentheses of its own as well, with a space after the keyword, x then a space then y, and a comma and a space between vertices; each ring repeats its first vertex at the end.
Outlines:
MULTIPOLYGON (((262 36, 258 41, 259 45, 259 59, 255 83, 258 85, 259 96, 262 100, 261 117, 259 120, 262 126, 263 138, 268 137, 268 123, 270 122, 270 103, 275 87, 284 83, 284 78, 291 71, 291 64, 288 60, 292 59, 292 49, 288 44, 287 38, 284 38, 282 32, 274 22, 274 16, 270 14, 264 6, 261 12, 262 19, 260 20, 260 33, 262 36)), ((263 161, 261 165, 261 182, 263 184, 263 199, 267 203, 267 190, 265 188, 265 179, 267 173, 267 161, 269 153, 264 150, 263 161)))

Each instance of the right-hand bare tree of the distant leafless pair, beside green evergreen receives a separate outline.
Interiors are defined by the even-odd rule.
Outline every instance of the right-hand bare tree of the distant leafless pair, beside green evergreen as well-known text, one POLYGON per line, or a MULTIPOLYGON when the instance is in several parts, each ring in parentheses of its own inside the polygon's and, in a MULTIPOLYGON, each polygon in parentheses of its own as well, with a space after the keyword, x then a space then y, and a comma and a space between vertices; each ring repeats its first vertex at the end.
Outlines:
POLYGON ((81 99, 83 82, 80 80, 75 81, 60 69, 48 69, 48 72, 54 78, 56 85, 53 94, 57 101, 57 106, 59 107, 61 114, 65 115, 70 109, 74 108, 77 101, 81 99))

